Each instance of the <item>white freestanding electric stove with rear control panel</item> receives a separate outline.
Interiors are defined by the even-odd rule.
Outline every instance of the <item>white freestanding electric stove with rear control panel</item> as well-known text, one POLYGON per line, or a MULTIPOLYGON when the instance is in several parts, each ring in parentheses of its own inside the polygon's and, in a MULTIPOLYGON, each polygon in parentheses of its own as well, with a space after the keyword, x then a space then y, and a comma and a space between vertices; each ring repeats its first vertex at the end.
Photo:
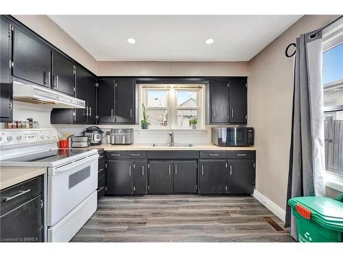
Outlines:
POLYGON ((96 149, 58 149, 54 129, 0 131, 0 166, 47 168, 47 241, 67 242, 97 208, 96 149))

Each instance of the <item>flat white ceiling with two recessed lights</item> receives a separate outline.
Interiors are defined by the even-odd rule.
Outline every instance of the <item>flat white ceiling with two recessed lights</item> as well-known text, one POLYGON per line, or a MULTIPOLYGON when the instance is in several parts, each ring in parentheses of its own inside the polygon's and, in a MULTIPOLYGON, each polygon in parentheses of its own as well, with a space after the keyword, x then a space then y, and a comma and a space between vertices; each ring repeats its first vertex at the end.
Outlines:
POLYGON ((248 61, 301 15, 49 17, 98 61, 248 61))

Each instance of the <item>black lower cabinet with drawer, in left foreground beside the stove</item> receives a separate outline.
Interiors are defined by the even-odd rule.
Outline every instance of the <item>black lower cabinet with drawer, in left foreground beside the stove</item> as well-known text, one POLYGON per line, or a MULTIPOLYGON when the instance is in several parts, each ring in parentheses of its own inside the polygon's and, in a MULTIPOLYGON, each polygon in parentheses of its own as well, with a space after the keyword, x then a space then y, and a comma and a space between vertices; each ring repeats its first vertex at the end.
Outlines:
POLYGON ((43 175, 1 191, 1 242, 43 242, 43 175))

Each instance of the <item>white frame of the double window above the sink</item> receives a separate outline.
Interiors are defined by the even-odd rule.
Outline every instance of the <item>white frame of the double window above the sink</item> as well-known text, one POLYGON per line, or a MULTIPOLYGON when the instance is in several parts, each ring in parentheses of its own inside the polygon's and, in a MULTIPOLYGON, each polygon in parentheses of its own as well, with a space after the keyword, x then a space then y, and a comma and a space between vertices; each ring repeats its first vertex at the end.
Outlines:
MULTIPOLYGON (((177 112, 178 110, 197 110, 198 124, 195 130, 204 130, 205 128, 205 84, 139 84, 139 122, 143 118, 142 103, 148 110, 165 110, 168 112, 167 126, 152 125, 152 130, 191 130, 191 127, 178 127, 177 112), (164 91, 167 90, 167 107, 148 107, 147 106, 147 92, 149 90, 164 91), (185 108, 178 107, 178 91, 193 91, 197 90, 197 107, 185 108)), ((194 130, 194 129, 193 129, 194 130)))

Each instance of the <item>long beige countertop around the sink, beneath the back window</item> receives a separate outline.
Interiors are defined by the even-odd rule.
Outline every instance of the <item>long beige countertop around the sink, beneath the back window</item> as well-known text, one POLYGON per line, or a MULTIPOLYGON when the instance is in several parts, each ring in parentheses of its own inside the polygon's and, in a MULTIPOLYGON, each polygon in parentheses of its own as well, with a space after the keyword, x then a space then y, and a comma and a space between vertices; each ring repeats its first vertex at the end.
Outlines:
POLYGON ((256 147, 218 147, 213 144, 193 144, 194 147, 152 147, 152 144, 133 144, 133 145, 94 145, 89 148, 104 148, 105 151, 180 151, 180 150, 194 150, 194 151, 255 151, 256 147))

